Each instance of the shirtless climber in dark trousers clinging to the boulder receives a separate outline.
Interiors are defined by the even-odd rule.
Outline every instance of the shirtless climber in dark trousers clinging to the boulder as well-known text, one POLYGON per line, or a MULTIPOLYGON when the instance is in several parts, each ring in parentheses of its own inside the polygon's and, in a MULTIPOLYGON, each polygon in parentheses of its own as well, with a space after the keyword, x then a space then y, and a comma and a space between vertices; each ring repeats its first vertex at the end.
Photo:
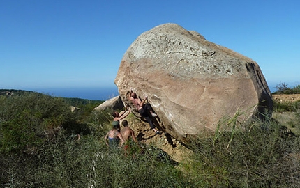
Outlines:
POLYGON ((133 102, 133 104, 135 105, 135 108, 137 108, 137 110, 139 111, 140 115, 145 118, 147 120, 147 122, 149 123, 151 130, 153 130, 154 132, 156 132, 156 134, 161 134, 161 132, 159 132, 158 130, 156 130, 155 126, 152 123, 151 118, 148 115, 148 111, 150 111, 151 116, 152 117, 157 117, 156 113, 154 113, 150 107, 149 103, 146 103, 147 100, 147 96, 144 97, 144 100, 140 100, 139 97, 137 97, 137 93, 134 93, 132 90, 130 90, 129 93, 129 100, 131 102, 133 102))

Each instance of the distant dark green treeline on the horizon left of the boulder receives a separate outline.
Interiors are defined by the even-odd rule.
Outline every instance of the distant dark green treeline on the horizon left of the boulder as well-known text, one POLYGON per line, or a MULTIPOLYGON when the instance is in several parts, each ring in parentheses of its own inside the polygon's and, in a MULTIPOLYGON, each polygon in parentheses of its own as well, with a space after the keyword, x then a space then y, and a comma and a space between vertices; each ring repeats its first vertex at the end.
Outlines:
MULTIPOLYGON (((16 90, 16 89, 0 89, 0 96, 11 97, 14 95, 23 95, 24 93, 37 93, 34 91, 25 91, 25 90, 16 90)), ((43 93, 38 93, 40 95, 46 95, 43 93)), ((80 99, 80 98, 68 98, 68 97, 60 97, 62 98, 67 104, 70 104, 74 107, 81 107, 87 104, 101 104, 104 100, 87 100, 87 99, 80 99)))

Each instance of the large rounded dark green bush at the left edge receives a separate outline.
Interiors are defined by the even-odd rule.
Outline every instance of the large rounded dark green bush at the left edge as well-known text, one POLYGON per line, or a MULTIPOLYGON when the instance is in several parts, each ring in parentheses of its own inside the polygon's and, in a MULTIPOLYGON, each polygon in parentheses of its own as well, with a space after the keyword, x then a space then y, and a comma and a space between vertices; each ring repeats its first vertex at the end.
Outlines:
POLYGON ((73 122, 63 100, 38 93, 24 93, 0 100, 0 152, 24 152, 73 122))

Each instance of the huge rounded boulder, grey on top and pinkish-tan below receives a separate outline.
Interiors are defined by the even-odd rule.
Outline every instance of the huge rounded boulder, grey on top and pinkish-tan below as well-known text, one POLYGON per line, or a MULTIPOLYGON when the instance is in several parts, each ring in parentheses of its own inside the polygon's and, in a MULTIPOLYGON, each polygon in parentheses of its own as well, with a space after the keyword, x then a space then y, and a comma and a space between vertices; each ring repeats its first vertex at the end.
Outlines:
POLYGON ((181 141, 215 131, 220 118, 237 111, 246 111, 239 118, 248 120, 273 106, 255 61, 177 24, 142 33, 124 54, 114 82, 133 109, 130 88, 148 95, 156 126, 181 141))

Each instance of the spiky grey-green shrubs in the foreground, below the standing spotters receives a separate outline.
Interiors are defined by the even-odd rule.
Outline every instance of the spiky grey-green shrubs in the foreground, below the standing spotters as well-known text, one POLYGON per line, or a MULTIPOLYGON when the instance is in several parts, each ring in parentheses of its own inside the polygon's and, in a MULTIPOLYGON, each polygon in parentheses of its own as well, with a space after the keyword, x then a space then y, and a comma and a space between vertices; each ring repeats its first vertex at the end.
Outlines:
MULTIPOLYGON (((75 141, 59 134, 40 148, 35 162, 25 157, 27 169, 17 166, 17 156, 5 157, 1 182, 16 187, 186 187, 190 182, 160 150, 144 146, 134 157, 123 150, 107 150, 94 136, 75 141), (22 170, 19 170, 22 169, 22 170)), ((20 164, 20 161, 19 161, 20 164)), ((3 184, 4 185, 4 184, 3 184)), ((188 187, 193 187, 190 185, 188 187)))

